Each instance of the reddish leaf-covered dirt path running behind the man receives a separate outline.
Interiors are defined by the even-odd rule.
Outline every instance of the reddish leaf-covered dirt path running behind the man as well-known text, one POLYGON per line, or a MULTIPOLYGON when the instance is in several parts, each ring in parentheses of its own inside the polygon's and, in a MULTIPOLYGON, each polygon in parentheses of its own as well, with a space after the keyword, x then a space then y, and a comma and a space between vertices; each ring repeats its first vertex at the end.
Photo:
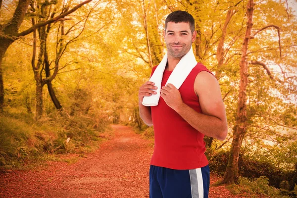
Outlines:
MULTIPOLYGON (((111 140, 76 163, 49 161, 38 170, 0 173, 0 198, 148 198, 152 144, 130 127, 112 128, 111 140)), ((209 198, 235 197, 212 187, 209 198)))

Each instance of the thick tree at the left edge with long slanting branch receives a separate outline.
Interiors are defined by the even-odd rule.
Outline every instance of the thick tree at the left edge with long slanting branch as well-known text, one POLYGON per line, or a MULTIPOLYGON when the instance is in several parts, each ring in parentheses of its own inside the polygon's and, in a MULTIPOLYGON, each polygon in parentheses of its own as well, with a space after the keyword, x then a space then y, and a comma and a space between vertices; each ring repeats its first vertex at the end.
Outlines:
MULTIPOLYGON (((56 0, 52 0, 56 1, 56 0)), ((28 35, 34 30, 37 30, 40 27, 46 26, 50 23, 56 22, 63 17, 69 15, 70 13, 74 12, 81 6, 86 3, 91 2, 92 0, 85 0, 78 5, 74 6, 72 9, 69 9, 67 12, 61 13, 60 15, 51 18, 46 21, 39 22, 32 27, 28 28, 25 31, 18 32, 19 28, 24 20, 25 14, 27 12, 29 3, 31 0, 19 0, 16 9, 14 10, 12 18, 6 23, 0 23, 0 110, 3 109, 4 105, 4 85, 3 85, 3 74, 2 74, 2 59, 8 47, 20 37, 28 35)), ((47 1, 48 2, 48 1, 47 1)), ((2 7, 0 7, 2 8, 2 7)))

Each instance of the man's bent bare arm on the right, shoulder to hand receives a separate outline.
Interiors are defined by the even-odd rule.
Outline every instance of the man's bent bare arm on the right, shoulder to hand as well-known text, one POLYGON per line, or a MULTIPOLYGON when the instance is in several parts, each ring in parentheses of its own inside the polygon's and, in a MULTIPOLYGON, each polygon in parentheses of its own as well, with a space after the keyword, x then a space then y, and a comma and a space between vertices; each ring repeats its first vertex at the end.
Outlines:
POLYGON ((218 140, 226 138, 227 118, 225 106, 221 98, 219 84, 212 74, 202 71, 195 80, 194 89, 198 95, 202 113, 198 113, 185 104, 180 97, 179 91, 172 84, 167 86, 162 88, 161 97, 192 127, 200 133, 218 140))

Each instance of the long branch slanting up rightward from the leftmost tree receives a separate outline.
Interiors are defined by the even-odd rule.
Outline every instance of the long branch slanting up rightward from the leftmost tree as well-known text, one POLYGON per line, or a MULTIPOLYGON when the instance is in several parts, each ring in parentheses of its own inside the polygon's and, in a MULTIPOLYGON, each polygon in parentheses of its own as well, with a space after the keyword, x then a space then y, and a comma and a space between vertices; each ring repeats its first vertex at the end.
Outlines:
POLYGON ((65 17, 65 16, 71 14, 72 12, 76 11, 78 8, 80 8, 80 7, 83 6, 84 4, 89 3, 89 2, 91 2, 91 1, 92 1, 92 0, 85 0, 84 2, 78 4, 78 5, 76 5, 75 7, 73 7, 72 9, 70 9, 69 11, 66 11, 66 12, 64 12, 64 13, 62 13, 62 14, 60 14, 60 15, 58 15, 58 16, 52 18, 52 19, 49 19, 49 20, 47 20, 47 21, 37 23, 36 25, 32 26, 31 28, 29 28, 29 29, 27 29, 27 30, 25 30, 25 31, 23 31, 23 32, 21 32, 21 33, 19 33, 17 36, 25 36, 25 35, 27 35, 27 34, 32 33, 32 32, 33 32, 34 30, 36 30, 37 28, 40 28, 40 27, 43 27, 43 26, 48 25, 48 24, 50 24, 50 23, 56 22, 57 20, 59 20, 59 19, 65 17))

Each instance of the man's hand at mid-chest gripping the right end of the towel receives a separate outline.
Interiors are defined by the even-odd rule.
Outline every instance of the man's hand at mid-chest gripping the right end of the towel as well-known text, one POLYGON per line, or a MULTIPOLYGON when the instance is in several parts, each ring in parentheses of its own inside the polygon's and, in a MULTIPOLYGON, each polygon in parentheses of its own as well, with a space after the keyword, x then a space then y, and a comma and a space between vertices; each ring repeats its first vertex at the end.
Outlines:
POLYGON ((160 92, 160 96, 173 110, 177 111, 177 108, 183 104, 181 94, 174 85, 168 83, 166 86, 161 88, 160 92))

